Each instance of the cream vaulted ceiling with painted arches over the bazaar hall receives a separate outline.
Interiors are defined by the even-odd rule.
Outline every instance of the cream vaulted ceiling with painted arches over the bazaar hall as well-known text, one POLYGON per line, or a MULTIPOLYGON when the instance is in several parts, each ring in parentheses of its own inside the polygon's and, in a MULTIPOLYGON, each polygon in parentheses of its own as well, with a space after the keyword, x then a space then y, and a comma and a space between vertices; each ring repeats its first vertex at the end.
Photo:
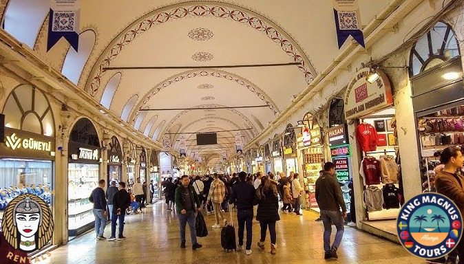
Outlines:
MULTIPOLYGON (((367 23, 390 0, 359 2, 367 23)), ((6 30, 24 13, 30 24, 16 26, 17 39, 39 57, 147 140, 169 148, 184 135, 189 153, 200 151, 211 165, 235 151, 235 131, 244 129, 245 141, 257 136, 339 52, 328 0, 82 0, 77 53, 63 39, 46 51, 47 0, 10 0, 6 30), (214 67, 273 63, 300 64, 214 67), (206 68, 189 68, 198 66, 206 68), (260 107, 209 109, 242 106, 260 107), (180 110, 143 111, 173 108, 180 110), (193 146, 193 133, 207 131, 227 132, 216 146, 193 146)))

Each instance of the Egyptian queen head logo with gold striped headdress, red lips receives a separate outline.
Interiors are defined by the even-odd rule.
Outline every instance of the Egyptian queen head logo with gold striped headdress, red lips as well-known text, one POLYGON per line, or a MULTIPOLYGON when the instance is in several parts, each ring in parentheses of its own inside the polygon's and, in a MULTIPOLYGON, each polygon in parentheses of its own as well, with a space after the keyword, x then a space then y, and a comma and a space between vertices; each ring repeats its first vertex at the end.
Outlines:
POLYGON ((6 206, 1 229, 6 241, 15 250, 22 252, 41 250, 52 239, 54 229, 52 211, 37 195, 30 193, 19 195, 6 206))

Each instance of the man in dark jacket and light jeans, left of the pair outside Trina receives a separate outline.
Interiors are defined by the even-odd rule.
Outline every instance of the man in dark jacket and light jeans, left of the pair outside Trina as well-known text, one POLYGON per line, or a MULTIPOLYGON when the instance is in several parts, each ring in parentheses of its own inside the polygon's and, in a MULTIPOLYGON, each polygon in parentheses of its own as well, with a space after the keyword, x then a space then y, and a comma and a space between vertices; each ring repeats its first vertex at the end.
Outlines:
POLYGON ((89 201, 94 203, 94 217, 95 217, 95 232, 97 240, 106 240, 103 236, 105 232, 106 219, 108 212, 106 210, 106 198, 105 198, 105 180, 101 179, 98 181, 98 187, 92 190, 92 194, 89 197, 89 201))

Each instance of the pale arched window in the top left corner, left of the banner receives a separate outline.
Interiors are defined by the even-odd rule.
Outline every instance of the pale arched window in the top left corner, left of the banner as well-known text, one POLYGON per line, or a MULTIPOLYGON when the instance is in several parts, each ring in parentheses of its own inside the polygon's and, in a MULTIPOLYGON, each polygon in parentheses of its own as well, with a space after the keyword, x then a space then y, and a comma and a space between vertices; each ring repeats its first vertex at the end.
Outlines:
POLYGON ((10 0, 5 10, 3 29, 31 49, 50 11, 49 0, 10 0))

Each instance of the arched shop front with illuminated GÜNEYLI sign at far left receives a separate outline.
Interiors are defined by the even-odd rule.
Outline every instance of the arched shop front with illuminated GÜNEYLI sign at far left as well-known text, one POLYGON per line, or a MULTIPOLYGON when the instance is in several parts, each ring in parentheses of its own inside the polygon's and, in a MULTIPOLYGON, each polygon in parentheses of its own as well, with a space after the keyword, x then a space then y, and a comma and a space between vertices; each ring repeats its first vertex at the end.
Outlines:
POLYGON ((5 140, 0 142, 0 223, 8 203, 24 193, 38 195, 54 212, 51 192, 56 181, 56 142, 48 99, 39 89, 20 85, 8 96, 2 113, 0 120, 5 125, 0 122, 0 126, 5 140))

